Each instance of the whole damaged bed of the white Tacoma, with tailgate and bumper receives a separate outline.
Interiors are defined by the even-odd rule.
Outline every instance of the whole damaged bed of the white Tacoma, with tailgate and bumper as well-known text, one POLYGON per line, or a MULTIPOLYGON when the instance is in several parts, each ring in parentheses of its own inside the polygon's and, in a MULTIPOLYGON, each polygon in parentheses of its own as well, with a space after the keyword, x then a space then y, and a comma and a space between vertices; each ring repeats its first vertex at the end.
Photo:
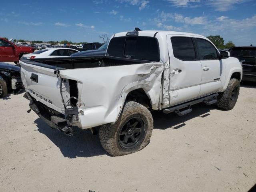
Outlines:
POLYGON ((163 64, 110 56, 20 60, 30 107, 48 125, 70 134, 117 120, 126 96, 143 90, 158 109, 163 64))

